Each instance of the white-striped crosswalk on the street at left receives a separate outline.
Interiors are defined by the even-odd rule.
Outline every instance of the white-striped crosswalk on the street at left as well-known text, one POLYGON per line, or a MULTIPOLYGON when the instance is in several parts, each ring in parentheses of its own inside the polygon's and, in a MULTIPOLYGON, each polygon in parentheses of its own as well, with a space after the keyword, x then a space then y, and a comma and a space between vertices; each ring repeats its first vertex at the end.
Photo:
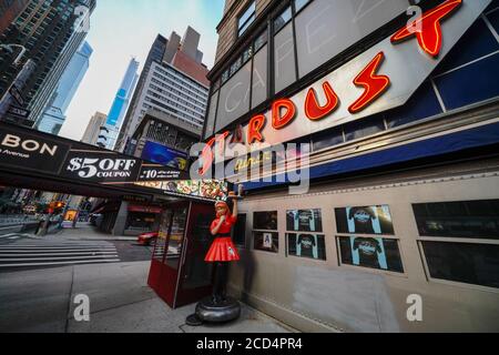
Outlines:
POLYGON ((0 245, 0 270, 118 263, 120 261, 116 247, 106 242, 80 243, 33 240, 22 244, 0 245))

